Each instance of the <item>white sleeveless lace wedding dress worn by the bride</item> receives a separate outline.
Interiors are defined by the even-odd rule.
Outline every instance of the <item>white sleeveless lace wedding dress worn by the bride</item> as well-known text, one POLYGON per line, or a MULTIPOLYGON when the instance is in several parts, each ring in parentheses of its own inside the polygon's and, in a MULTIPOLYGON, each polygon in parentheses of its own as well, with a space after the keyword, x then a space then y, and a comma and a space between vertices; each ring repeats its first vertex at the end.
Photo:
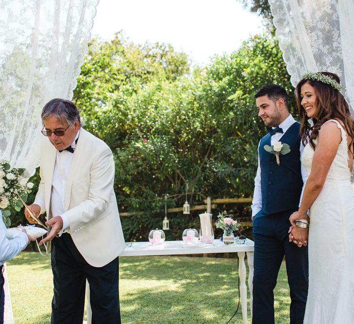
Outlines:
MULTIPOLYGON (((324 186, 310 208, 309 289, 306 324, 354 323, 354 188, 348 145, 342 141, 324 186)), ((317 140, 315 141, 317 143, 317 140)), ((314 151, 307 144, 301 161, 311 170, 314 151)))

